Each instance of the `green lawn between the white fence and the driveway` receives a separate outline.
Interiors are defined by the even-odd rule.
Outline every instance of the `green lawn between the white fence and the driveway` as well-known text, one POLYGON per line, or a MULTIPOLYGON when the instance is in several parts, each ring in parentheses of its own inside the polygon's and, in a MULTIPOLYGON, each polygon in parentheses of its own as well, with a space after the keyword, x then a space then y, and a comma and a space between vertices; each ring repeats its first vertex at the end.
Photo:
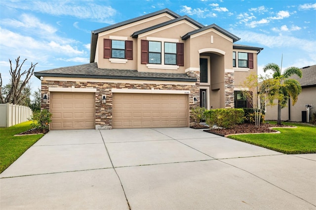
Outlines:
POLYGON ((31 123, 32 121, 28 121, 8 128, 0 128, 0 173, 44 136, 43 134, 14 136, 31 129, 31 123))

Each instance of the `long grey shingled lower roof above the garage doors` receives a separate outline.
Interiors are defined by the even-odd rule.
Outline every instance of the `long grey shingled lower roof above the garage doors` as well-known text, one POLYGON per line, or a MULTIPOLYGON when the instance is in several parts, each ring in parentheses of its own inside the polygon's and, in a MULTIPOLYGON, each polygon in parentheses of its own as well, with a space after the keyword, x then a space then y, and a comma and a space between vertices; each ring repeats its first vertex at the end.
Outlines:
POLYGON ((134 79, 159 81, 188 81, 196 82, 197 78, 185 73, 157 73, 139 72, 137 70, 99 69, 97 63, 83 64, 71 67, 62 67, 52 70, 37 71, 34 75, 77 78, 103 78, 103 79, 134 79))

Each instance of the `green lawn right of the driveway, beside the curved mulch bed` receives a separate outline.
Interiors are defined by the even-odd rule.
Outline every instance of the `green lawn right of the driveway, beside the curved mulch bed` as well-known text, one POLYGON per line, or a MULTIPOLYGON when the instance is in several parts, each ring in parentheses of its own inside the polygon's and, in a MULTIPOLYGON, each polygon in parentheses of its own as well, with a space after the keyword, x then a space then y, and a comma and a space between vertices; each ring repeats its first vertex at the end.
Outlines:
MULTIPOLYGON (((275 122, 271 122, 274 124, 275 122)), ((285 154, 316 153, 316 127, 284 122, 297 128, 274 128, 280 134, 246 134, 228 138, 272 149, 285 154)))

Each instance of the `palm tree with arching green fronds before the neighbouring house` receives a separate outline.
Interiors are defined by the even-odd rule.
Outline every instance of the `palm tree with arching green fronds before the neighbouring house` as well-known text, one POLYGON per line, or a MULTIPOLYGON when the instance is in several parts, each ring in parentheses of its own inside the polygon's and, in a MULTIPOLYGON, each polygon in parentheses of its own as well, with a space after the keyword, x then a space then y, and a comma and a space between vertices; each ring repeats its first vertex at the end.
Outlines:
POLYGON ((281 108, 286 106, 289 98, 292 99, 292 105, 295 105, 298 95, 302 91, 300 83, 296 79, 290 79, 289 77, 296 74, 301 78, 302 71, 297 67, 289 67, 286 68, 282 74, 282 70, 274 63, 267 64, 263 70, 264 72, 272 70, 274 72, 273 78, 278 78, 281 83, 277 101, 277 124, 279 125, 281 124, 281 108))

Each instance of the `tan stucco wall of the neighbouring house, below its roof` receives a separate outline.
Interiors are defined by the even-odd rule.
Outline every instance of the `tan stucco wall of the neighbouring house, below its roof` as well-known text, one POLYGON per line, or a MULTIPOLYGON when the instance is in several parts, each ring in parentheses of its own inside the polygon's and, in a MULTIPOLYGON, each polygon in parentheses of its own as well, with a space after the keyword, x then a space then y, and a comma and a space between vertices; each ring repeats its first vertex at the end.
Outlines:
MULTIPOLYGON (((290 109, 290 121, 301 122, 302 111, 306 111, 305 105, 312 105, 312 113, 316 111, 316 87, 303 88, 297 103, 294 106, 292 101, 290 103, 290 107, 287 106, 281 109, 281 120, 289 120, 288 109, 290 109)), ((277 105, 266 107, 265 118, 267 120, 277 120, 277 105)))

